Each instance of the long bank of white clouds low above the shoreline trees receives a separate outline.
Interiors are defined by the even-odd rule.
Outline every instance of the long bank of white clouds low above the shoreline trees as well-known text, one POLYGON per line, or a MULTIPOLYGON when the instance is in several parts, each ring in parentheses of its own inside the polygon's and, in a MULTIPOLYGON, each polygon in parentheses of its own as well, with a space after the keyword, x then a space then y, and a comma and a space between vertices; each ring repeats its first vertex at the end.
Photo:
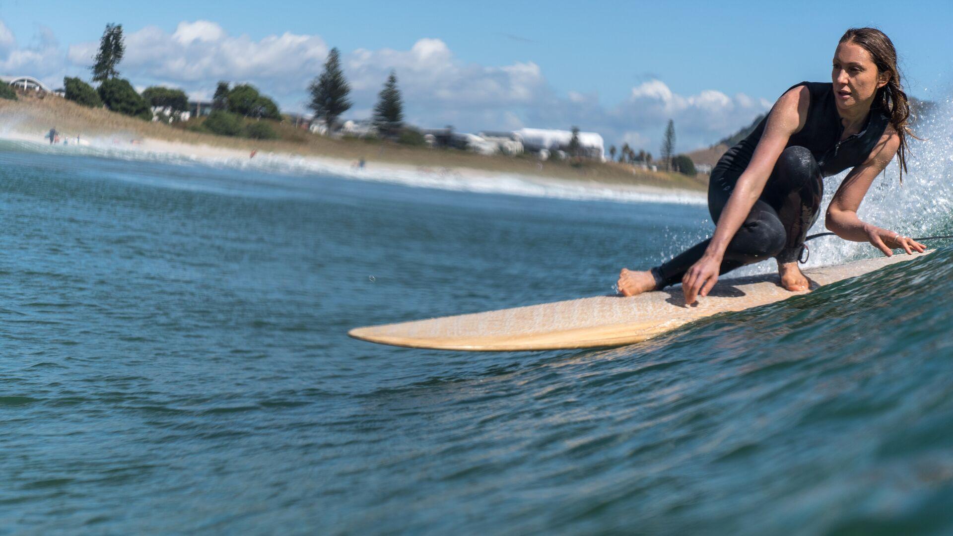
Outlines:
MULTIPOLYGON (((274 96, 282 108, 301 111, 307 87, 323 70, 329 46, 319 35, 284 32, 260 39, 231 35, 219 24, 183 21, 174 31, 155 26, 126 30, 126 55, 119 65, 136 87, 179 87, 209 98, 218 80, 250 82, 274 96)), ((35 45, 20 47, 0 21, 0 73, 30 74, 59 87, 64 74, 89 77, 98 42, 71 44, 64 51, 50 31, 40 29, 35 45)), ((655 152, 668 119, 678 134, 678 150, 708 145, 751 122, 771 103, 742 93, 716 90, 680 94, 658 79, 631 89, 616 105, 598 94, 558 94, 532 61, 487 66, 456 57, 447 44, 421 38, 408 50, 357 49, 342 52, 354 108, 347 116, 370 114, 389 72, 397 73, 405 116, 421 126, 454 125, 457 130, 514 129, 522 126, 602 134, 607 144, 628 142, 655 152)))

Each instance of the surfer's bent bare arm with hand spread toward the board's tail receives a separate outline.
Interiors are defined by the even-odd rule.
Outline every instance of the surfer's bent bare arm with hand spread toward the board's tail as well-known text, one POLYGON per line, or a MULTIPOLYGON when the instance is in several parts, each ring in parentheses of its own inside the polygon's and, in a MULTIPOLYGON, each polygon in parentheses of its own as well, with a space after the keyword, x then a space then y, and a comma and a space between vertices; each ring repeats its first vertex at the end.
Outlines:
POLYGON ((893 251, 889 246, 902 248, 907 254, 925 250, 923 244, 902 237, 900 233, 883 229, 866 223, 857 216, 863 196, 867 194, 870 185, 880 175, 900 147, 900 136, 892 126, 888 126, 881 139, 861 165, 855 167, 841 182, 841 187, 827 207, 827 216, 824 223, 829 231, 838 237, 855 242, 870 242, 890 257, 893 251))

